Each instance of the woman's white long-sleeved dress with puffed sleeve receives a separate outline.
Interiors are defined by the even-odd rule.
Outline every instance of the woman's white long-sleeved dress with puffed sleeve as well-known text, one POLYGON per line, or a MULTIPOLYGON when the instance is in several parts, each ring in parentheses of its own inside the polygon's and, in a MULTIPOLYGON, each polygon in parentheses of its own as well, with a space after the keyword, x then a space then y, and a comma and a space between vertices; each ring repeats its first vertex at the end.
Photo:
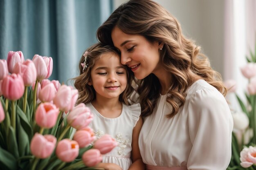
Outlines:
POLYGON ((233 119, 219 91, 200 79, 187 90, 186 101, 173 118, 166 95, 144 119, 139 135, 143 162, 188 170, 226 170, 231 159, 233 119))

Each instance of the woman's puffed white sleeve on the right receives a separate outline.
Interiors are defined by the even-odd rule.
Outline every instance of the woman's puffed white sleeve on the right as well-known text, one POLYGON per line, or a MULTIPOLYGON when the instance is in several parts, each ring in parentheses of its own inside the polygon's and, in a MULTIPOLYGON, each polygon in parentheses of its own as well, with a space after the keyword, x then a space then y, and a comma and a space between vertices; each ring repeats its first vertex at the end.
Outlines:
POLYGON ((216 89, 201 89, 188 108, 192 149, 188 170, 226 170, 231 159, 233 119, 225 97, 216 89))

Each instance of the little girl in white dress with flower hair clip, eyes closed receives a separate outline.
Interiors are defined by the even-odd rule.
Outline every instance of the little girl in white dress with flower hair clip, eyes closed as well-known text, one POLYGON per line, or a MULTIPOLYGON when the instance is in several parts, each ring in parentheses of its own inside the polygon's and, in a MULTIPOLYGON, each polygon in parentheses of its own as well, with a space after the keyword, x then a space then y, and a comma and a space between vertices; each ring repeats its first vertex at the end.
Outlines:
POLYGON ((142 126, 140 105, 129 106, 134 90, 133 74, 121 64, 115 48, 95 44, 81 57, 80 75, 74 86, 79 91, 78 103, 90 108, 94 119, 90 124, 99 138, 109 134, 119 145, 103 155, 98 168, 105 170, 144 170, 138 137, 142 126))

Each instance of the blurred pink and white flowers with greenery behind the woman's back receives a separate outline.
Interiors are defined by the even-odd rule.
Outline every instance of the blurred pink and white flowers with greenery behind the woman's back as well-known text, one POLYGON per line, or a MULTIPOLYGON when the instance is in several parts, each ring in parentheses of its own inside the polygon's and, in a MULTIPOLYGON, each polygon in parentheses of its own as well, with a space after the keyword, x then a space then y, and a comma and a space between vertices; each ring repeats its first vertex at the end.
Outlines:
MULTIPOLYGON (((248 79, 246 101, 236 94, 241 111, 231 109, 234 120, 232 156, 227 170, 256 170, 256 54, 247 57, 247 65, 241 68, 248 79)), ((225 82, 228 93, 235 93, 236 82, 225 82)))

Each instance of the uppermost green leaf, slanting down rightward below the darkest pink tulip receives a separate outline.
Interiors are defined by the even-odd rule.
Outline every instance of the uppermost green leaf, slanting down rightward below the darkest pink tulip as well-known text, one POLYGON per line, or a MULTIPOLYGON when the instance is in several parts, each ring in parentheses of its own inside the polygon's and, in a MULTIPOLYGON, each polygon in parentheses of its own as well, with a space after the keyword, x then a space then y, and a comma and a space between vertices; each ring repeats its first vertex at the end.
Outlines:
POLYGON ((23 129, 27 133, 27 135, 29 137, 29 141, 30 141, 32 139, 33 135, 34 135, 33 134, 33 129, 31 127, 29 121, 27 120, 26 115, 21 110, 21 108, 18 107, 18 106, 17 106, 17 115, 20 117, 20 124, 22 125, 23 129))

